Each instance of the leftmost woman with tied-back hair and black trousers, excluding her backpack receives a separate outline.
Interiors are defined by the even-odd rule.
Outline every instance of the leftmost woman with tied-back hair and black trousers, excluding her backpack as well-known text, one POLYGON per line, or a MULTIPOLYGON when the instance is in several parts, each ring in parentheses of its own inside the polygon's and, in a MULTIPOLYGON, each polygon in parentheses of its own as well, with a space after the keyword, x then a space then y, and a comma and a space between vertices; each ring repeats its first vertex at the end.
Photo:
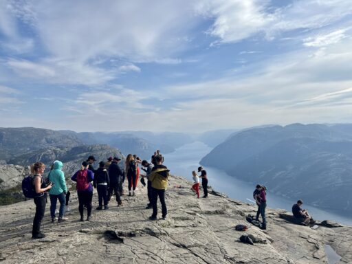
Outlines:
POLYGON ((43 239, 45 234, 41 232, 41 221, 43 220, 47 199, 47 190, 52 188, 52 183, 48 186, 45 186, 45 181, 41 176, 45 170, 45 164, 42 162, 34 163, 31 168, 31 173, 33 175, 33 186, 36 192, 34 197, 34 204, 36 205, 36 214, 33 219, 33 229, 32 229, 32 239, 43 239))

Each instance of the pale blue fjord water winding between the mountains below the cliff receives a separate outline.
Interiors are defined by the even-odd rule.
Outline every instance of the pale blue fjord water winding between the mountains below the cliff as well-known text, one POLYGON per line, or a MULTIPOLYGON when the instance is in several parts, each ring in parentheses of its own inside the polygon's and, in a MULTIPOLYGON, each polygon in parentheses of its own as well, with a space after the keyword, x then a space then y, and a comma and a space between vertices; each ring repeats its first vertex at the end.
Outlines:
MULTIPOLYGON (((170 173, 173 175, 183 176, 192 180, 192 170, 196 170, 200 166, 199 161, 202 157, 208 154, 212 148, 202 142, 193 142, 177 148, 173 153, 164 155, 164 164, 170 168, 170 173)), ((252 194, 254 184, 250 184, 234 177, 231 177, 223 170, 217 168, 206 167, 208 173, 209 185, 217 190, 227 194, 232 199, 254 203, 252 194)), ((173 183, 170 182, 172 186, 173 183)), ((285 199, 274 193, 267 192, 267 206, 270 208, 281 208, 291 212, 292 205, 296 201, 285 199)), ((352 225, 352 219, 343 217, 333 212, 327 212, 314 206, 303 204, 303 208, 309 210, 309 213, 318 220, 331 220, 345 225, 352 225)))

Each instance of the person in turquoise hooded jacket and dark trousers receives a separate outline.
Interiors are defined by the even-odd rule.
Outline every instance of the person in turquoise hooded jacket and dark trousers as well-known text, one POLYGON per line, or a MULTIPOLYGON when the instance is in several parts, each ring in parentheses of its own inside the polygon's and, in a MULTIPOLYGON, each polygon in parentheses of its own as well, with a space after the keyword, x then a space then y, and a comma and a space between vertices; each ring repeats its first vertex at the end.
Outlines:
POLYGON ((52 223, 54 223, 56 202, 60 202, 60 209, 58 211, 58 222, 66 221, 67 218, 64 217, 65 206, 66 206, 66 194, 67 186, 65 181, 65 175, 63 173, 63 162, 56 160, 52 164, 52 169, 48 175, 49 180, 53 183, 53 187, 49 190, 50 195, 50 214, 52 216, 52 223))

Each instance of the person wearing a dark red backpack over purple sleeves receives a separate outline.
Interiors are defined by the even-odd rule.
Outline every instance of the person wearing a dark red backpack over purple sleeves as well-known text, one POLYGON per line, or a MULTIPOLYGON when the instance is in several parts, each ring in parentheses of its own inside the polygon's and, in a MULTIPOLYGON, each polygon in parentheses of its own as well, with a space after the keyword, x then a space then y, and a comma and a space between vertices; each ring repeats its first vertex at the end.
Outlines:
POLYGON ((89 221, 91 217, 91 199, 93 198, 93 186, 91 185, 91 181, 94 180, 94 174, 88 167, 88 162, 82 162, 82 168, 71 177, 72 181, 77 182, 76 188, 80 221, 84 221, 83 206, 87 208, 87 221, 89 221))

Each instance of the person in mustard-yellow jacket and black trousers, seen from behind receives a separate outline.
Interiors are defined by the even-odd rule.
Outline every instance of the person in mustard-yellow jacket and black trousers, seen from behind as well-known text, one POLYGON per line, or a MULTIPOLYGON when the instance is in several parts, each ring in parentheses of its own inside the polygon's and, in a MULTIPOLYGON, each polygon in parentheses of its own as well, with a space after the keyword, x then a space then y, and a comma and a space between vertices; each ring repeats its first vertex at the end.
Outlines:
POLYGON ((155 157, 156 165, 151 170, 151 174, 148 179, 151 181, 151 203, 153 206, 153 214, 149 219, 157 219, 157 197, 162 203, 162 219, 166 219, 166 214, 168 210, 165 203, 165 190, 168 187, 168 177, 170 176, 170 170, 164 165, 162 165, 163 157, 162 155, 157 155, 155 157))

